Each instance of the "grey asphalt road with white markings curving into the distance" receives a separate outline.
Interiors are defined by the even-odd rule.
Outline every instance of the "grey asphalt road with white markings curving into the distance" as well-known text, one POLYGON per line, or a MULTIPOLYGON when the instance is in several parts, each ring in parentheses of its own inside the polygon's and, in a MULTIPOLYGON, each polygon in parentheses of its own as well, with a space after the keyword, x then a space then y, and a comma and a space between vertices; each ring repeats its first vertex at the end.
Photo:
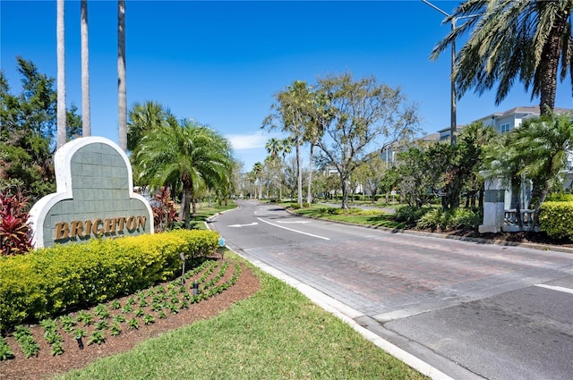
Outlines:
POLYGON ((211 227, 456 379, 573 379, 573 254, 384 232, 240 201, 211 227))

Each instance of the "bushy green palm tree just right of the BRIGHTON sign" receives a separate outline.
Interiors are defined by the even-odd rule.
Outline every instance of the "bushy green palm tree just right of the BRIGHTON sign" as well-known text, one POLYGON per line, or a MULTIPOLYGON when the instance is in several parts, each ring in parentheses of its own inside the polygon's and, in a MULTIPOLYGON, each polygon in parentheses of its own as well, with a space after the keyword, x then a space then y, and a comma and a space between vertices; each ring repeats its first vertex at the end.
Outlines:
POLYGON ((182 184, 185 228, 190 226, 191 215, 197 214, 196 191, 200 185, 218 189, 227 186, 231 178, 230 142, 217 131, 189 120, 150 131, 133 155, 150 185, 182 184))

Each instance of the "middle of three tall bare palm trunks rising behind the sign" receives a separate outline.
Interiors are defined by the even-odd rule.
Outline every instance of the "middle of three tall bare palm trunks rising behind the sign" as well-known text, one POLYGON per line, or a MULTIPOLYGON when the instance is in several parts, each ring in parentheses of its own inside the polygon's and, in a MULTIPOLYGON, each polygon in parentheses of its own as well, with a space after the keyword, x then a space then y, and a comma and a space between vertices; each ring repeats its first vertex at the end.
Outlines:
POLYGON ((88 0, 81 0, 81 135, 91 136, 90 47, 88 44, 88 0))

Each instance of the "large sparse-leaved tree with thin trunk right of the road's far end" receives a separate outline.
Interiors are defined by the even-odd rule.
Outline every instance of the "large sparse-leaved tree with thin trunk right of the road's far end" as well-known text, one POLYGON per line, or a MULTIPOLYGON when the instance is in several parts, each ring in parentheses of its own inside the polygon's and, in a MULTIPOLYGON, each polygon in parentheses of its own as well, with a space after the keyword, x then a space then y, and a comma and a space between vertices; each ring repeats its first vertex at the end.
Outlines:
POLYGON ((373 77, 354 80, 344 73, 319 80, 317 91, 328 99, 329 117, 323 123, 320 161, 336 167, 342 189, 342 208, 348 207, 348 181, 373 151, 388 141, 411 139, 418 131, 417 108, 399 88, 373 77))

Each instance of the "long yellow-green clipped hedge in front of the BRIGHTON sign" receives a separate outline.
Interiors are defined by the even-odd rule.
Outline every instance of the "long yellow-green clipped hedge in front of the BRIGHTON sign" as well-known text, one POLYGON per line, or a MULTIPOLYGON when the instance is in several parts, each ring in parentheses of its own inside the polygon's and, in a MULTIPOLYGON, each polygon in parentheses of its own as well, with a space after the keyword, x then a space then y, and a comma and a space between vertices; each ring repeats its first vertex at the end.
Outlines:
POLYGON ((2 258, 0 332, 174 278, 182 266, 180 253, 199 258, 217 247, 217 232, 178 230, 2 258))

